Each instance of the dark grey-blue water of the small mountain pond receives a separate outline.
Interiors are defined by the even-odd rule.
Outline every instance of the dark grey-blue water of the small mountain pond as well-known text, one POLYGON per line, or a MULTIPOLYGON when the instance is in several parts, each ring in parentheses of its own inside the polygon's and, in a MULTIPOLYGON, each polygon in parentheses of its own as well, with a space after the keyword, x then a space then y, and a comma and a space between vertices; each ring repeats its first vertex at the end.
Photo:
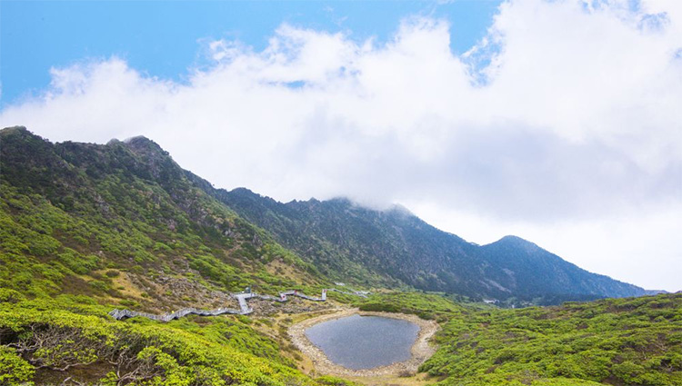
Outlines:
POLYGON ((352 315, 318 323, 306 336, 327 358, 348 369, 372 369, 410 359, 419 326, 379 316, 352 315))

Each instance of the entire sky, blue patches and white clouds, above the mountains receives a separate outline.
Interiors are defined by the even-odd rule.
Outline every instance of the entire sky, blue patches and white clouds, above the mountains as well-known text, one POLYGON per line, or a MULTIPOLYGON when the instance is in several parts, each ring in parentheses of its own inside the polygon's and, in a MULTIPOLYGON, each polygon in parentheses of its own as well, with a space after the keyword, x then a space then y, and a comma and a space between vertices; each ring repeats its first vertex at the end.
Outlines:
POLYGON ((682 2, 0 2, 0 124, 682 290, 682 2))

